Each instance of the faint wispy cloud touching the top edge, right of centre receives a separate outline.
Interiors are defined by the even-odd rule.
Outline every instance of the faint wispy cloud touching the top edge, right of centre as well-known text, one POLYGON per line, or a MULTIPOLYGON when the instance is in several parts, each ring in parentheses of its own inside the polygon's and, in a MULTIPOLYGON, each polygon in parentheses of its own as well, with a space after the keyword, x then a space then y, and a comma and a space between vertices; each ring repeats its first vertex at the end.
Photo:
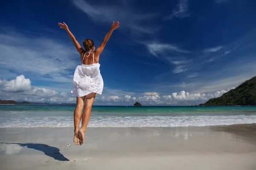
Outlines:
POLYGON ((184 18, 189 16, 189 5, 188 0, 179 0, 177 5, 177 9, 172 11, 172 14, 165 17, 164 20, 171 20, 175 17, 177 18, 184 18))

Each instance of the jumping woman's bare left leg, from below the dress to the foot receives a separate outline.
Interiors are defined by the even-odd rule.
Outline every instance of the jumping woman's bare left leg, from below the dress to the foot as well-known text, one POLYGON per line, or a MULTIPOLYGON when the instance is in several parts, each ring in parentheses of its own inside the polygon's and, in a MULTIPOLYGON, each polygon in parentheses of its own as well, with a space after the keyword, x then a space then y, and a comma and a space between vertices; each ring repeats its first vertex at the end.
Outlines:
POLYGON ((74 143, 76 145, 79 145, 79 140, 80 140, 80 136, 79 136, 79 123, 81 120, 81 114, 84 108, 84 99, 85 96, 82 97, 76 97, 76 108, 74 111, 74 143))

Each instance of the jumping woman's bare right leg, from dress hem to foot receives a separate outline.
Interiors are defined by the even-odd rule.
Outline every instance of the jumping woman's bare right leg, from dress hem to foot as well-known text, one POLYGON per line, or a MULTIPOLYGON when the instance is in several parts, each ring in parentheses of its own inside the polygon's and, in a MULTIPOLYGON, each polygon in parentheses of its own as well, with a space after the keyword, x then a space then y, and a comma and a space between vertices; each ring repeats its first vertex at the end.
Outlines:
POLYGON ((84 111, 82 114, 82 127, 79 130, 79 134, 80 134, 79 143, 80 144, 84 143, 84 134, 85 134, 86 127, 87 127, 89 119, 90 119, 90 112, 92 110, 95 96, 96 96, 96 93, 90 93, 85 96, 84 111))

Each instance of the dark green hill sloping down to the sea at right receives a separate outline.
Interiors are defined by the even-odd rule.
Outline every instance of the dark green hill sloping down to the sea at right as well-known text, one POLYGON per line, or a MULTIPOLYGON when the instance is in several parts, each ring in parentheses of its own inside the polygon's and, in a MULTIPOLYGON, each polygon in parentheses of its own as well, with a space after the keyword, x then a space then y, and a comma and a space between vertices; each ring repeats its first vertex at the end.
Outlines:
POLYGON ((256 77, 199 106, 256 105, 256 77))

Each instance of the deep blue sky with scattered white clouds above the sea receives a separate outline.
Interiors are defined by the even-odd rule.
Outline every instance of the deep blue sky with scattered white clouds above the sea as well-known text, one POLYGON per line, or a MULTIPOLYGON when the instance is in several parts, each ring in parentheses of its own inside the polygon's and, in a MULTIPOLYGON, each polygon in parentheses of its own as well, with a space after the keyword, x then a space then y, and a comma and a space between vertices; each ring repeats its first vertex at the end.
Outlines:
POLYGON ((256 76, 254 0, 4 0, 0 99, 75 103, 82 45, 99 46, 104 81, 94 105, 198 105, 256 76))

